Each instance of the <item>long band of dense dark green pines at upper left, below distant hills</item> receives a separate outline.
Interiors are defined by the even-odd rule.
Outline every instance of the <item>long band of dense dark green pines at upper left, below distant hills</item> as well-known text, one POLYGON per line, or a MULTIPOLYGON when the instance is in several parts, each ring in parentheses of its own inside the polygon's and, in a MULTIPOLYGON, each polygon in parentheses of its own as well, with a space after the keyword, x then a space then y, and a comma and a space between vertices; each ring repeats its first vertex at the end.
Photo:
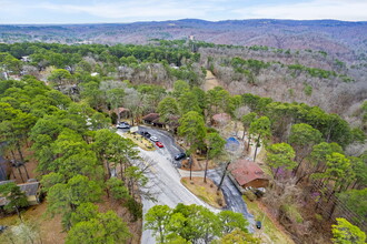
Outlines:
MULTIPOLYGON (((187 48, 169 48, 160 45, 133 45, 133 44, 58 44, 58 43, 14 43, 0 44, 0 52, 8 52, 17 59, 30 55, 32 62, 38 64, 44 60, 49 65, 65 68, 81 61, 82 57, 93 54, 99 57, 99 61, 119 63, 121 58, 133 57, 136 60, 160 62, 166 60, 168 63, 175 63, 180 67, 182 59, 191 59, 198 61, 200 58, 197 53, 191 53, 187 48), (59 55, 58 55, 59 54, 59 55), (61 58, 58 60, 57 58, 61 58)), ((122 59, 123 61, 125 59, 122 59)), ((40 67, 42 68, 42 67, 40 67)))

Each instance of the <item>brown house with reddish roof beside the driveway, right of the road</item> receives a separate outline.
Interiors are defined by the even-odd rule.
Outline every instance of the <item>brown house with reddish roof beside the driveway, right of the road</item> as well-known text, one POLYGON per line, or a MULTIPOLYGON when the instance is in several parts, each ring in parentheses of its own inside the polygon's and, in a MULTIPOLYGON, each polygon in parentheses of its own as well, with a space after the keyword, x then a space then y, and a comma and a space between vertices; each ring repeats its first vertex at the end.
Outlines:
POLYGON ((241 187, 266 187, 269 184, 269 180, 265 175, 261 167, 248 160, 239 160, 236 163, 229 165, 232 177, 241 187))

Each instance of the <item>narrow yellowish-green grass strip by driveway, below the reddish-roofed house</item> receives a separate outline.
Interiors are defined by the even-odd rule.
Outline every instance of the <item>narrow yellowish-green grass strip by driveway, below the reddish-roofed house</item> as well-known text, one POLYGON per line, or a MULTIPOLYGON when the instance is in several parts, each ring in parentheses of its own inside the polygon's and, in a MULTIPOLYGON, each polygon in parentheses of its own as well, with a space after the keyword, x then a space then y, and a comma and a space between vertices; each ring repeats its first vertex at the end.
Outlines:
MULTIPOLYGON (((274 223, 267 216, 266 213, 264 213, 256 201, 250 202, 249 200, 244 196, 244 200, 247 204, 248 211, 254 215, 256 221, 261 221, 262 223, 262 232, 271 240, 269 242, 269 238, 266 236, 262 236, 262 243, 281 243, 281 244, 294 244, 295 242, 284 232, 281 232, 274 223)), ((255 233, 256 236, 261 236, 261 231, 257 231, 255 233)))

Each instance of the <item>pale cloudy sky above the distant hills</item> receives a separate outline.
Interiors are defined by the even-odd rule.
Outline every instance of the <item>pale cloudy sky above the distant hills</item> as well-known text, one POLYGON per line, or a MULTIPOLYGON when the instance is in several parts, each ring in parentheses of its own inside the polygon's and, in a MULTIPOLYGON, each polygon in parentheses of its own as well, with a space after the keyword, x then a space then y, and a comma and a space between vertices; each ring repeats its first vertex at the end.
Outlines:
POLYGON ((0 0, 1 23, 101 23, 177 19, 367 21, 367 0, 0 0))

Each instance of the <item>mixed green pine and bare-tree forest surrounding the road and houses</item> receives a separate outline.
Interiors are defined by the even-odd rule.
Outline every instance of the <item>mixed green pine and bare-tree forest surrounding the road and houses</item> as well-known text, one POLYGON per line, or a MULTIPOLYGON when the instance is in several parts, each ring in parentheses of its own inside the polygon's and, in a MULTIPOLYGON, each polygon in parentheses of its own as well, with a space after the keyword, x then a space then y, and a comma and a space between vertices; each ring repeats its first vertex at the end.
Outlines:
MULTIPOLYGON (((340 243, 345 226, 361 243, 360 230, 367 230, 366 68, 339 60, 338 53, 280 48, 186 39, 155 39, 148 45, 1 43, 0 141, 8 142, 7 156, 33 152, 48 212, 61 214, 67 243, 90 236, 122 243, 137 240, 129 234, 135 224, 125 222, 141 218, 140 197, 149 196, 149 189, 146 167, 132 164, 135 144, 111 130, 120 121, 118 109, 129 110, 132 124, 151 112, 160 122, 175 119, 188 152, 204 154, 211 150, 210 136, 221 136, 212 116, 227 113, 234 130, 242 128, 247 150, 255 146, 255 156, 258 148, 266 152, 261 165, 271 183, 261 201, 296 243, 331 237, 340 243), (202 90, 207 70, 221 87, 202 90), (111 169, 121 170, 118 177, 110 177, 111 169), (111 210, 100 212, 96 203, 101 201, 121 204, 129 213, 125 222, 111 210)), ((177 224, 196 213, 185 206, 162 210, 177 224)), ((195 232, 196 225, 185 233, 166 220, 169 234, 160 230, 161 240, 209 243, 230 235, 218 230, 220 215, 196 211, 216 223, 205 225, 207 235, 195 232)), ((159 213, 151 213, 152 223, 159 213)), ((152 230, 159 232, 153 224, 152 230)))

